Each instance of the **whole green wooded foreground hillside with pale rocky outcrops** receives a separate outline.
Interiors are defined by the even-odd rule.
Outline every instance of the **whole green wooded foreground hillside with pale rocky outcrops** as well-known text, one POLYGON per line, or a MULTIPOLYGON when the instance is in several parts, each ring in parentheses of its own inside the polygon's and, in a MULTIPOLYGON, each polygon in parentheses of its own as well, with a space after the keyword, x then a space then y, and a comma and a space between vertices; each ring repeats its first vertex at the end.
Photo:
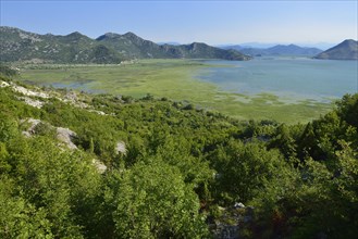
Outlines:
POLYGON ((0 81, 0 238, 355 238, 358 95, 306 125, 0 81))

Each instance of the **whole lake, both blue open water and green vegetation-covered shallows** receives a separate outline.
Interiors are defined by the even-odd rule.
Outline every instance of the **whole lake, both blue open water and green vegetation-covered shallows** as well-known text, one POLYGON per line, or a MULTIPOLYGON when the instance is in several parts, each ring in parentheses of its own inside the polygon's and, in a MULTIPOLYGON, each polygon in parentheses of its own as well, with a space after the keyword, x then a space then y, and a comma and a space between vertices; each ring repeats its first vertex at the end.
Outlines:
POLYGON ((308 122, 357 89, 357 61, 303 58, 140 60, 137 64, 25 68, 22 80, 55 88, 189 101, 239 120, 308 122), (203 62, 202 62, 203 61, 203 62))

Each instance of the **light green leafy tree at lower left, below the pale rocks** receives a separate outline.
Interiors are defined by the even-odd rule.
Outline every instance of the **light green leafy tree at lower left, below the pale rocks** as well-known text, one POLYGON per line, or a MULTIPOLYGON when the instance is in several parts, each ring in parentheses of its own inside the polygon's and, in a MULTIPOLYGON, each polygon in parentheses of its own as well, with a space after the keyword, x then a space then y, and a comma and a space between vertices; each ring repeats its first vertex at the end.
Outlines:
POLYGON ((41 222, 44 216, 54 237, 82 238, 94 216, 88 213, 90 205, 100 192, 99 174, 90 159, 79 151, 59 149, 47 136, 13 138, 7 142, 7 175, 14 183, 12 197, 18 212, 28 209, 30 213, 24 215, 38 213, 41 222))

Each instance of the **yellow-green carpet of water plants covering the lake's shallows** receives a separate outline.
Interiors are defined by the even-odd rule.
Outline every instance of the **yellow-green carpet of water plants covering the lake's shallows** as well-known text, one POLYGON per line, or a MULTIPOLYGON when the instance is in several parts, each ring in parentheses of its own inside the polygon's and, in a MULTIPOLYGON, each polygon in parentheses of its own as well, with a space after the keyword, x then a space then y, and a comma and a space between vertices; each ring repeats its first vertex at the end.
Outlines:
POLYGON ((246 96, 221 91, 195 78, 199 71, 208 67, 213 66, 193 60, 140 60, 126 65, 42 65, 41 68, 23 67, 21 79, 89 92, 135 98, 150 93, 175 101, 188 100, 197 106, 240 120, 305 123, 332 109, 330 103, 310 100, 287 103, 270 93, 246 96))

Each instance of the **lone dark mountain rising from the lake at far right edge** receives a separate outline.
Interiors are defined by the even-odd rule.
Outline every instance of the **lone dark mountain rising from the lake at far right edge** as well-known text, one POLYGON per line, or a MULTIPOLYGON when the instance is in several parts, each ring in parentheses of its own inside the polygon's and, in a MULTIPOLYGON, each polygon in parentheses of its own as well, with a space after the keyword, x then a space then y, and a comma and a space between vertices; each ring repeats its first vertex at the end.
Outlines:
POLYGON ((340 45, 316 55, 314 59, 358 60, 358 41, 344 40, 340 45))

